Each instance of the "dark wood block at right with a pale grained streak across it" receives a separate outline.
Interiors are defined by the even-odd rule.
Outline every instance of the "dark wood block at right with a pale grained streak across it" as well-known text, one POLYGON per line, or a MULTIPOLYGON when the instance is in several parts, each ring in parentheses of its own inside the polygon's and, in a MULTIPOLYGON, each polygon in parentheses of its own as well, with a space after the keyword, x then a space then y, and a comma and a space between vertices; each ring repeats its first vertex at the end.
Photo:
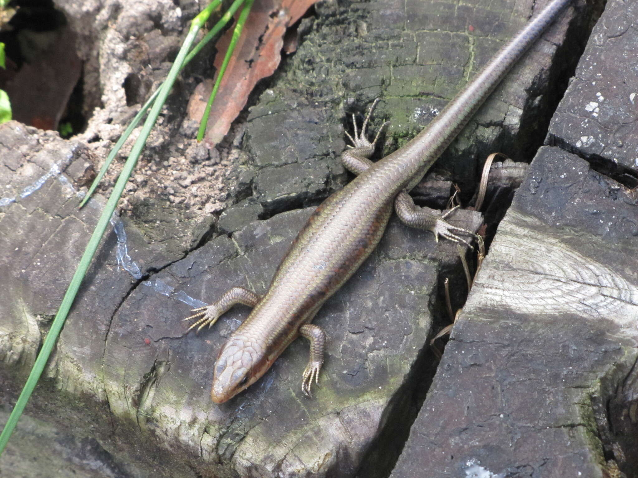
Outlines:
POLYGON ((637 212, 586 161, 540 150, 393 478, 635 470, 637 212))

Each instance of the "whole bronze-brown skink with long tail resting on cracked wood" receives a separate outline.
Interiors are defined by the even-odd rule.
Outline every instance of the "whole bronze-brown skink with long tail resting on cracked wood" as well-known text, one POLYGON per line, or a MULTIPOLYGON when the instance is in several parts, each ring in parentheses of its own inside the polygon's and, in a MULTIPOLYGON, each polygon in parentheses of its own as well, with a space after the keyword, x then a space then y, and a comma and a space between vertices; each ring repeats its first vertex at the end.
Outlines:
MULTIPOLYGON (((461 131, 501 78, 553 22, 570 0, 551 0, 508 41, 412 141, 372 163, 376 140, 366 138, 370 113, 359 132, 348 137, 353 147, 342 161, 357 177, 335 192, 311 215, 279 264, 263 296, 233 287, 218 301, 193 310, 198 330, 211 326, 230 307, 253 307, 248 318, 219 350, 214 366, 211 398, 215 403, 237 395, 258 380, 286 347, 301 335, 310 341, 310 359, 303 373, 302 391, 318 380, 323 363, 325 333, 311 320, 323 303, 343 285, 375 249, 392 213, 408 226, 430 229, 438 238, 464 242, 445 221, 414 204, 408 191, 423 177, 441 152, 461 131)), ((374 104, 372 108, 374 107, 374 104)), ((370 108, 370 112, 372 111, 370 108)))

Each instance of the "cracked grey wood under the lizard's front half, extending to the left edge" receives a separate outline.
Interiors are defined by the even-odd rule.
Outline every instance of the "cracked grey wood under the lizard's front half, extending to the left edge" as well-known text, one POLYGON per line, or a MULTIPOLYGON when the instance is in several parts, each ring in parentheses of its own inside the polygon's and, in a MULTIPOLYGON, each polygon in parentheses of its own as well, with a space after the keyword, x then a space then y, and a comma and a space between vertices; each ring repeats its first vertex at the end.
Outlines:
MULTIPOLYGON (((10 195, 1 212, 6 233, 0 245, 14 257, 3 264, 3 294, 13 298, 3 301, 3 316, 10 320, 0 324, 6 403, 33 363, 101 198, 75 210, 73 184, 82 182, 87 165, 80 143, 16 122, 0 128, 0 143, 11 152, 3 156, 3 177, 11 187, 3 190, 10 195)), ((209 400, 216 350, 246 310, 226 314, 212 331, 182 337, 187 324, 181 318, 196 298, 214 297, 231 284, 263 292, 311 212, 254 222, 142 281, 150 268, 163 268, 174 257, 157 243, 145 243, 131 224, 115 228, 119 236, 114 232, 104 241, 45 372, 46 392, 36 393, 29 411, 40 417, 45 412, 63 429, 70 425, 76 438, 68 446, 76 453, 84 437, 98 437, 94 455, 108 451, 114 461, 102 463, 104 474, 144 475, 151 466, 146 457, 152 456, 152 467, 166 476, 191 475, 189 467, 221 476, 292 470, 352 475, 426 342, 436 270, 456 262, 452 245, 436 249, 431 235, 392 222, 357 280, 317 318, 329 333, 330 367, 313 400, 299 391, 308 354, 300 340, 239 400, 223 407, 209 400), (175 445, 180 453, 159 452, 175 445)), ((463 216, 478 219, 471 212, 457 218, 463 216)), ((11 445, 3 467, 22 469, 19 456, 11 445)))

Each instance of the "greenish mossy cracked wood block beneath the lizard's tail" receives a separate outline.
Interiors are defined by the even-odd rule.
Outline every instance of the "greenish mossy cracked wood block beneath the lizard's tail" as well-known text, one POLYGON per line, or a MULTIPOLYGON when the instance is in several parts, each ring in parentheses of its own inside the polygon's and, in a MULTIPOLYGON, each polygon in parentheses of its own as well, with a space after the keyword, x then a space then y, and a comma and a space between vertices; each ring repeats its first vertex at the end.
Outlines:
MULTIPOLYGON (((309 205, 341 187, 338 155, 345 147, 345 113, 361 113, 381 98, 371 129, 390 120, 383 152, 412 138, 447 104, 535 8, 529 0, 457 3, 378 0, 320 3, 299 50, 260 95, 246 124, 250 157, 237 167, 248 198, 230 206, 219 227, 234 231, 247 219, 309 205), (376 125, 376 126, 375 126, 376 125)), ((567 34, 582 18, 554 25, 531 47, 470 120, 435 168, 454 175, 463 191, 494 150, 531 160, 537 128, 549 122, 551 87, 575 59, 552 62, 558 45, 582 41, 567 34)), ((573 45, 570 45, 573 46, 573 45)), ((441 207, 443 207, 441 205, 441 207)))

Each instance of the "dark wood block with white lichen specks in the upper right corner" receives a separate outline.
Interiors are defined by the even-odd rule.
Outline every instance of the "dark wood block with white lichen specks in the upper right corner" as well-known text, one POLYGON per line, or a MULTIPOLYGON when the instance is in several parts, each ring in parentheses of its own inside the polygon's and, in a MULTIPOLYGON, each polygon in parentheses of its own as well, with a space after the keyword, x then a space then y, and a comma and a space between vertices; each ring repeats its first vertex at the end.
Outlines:
POLYGON ((638 185, 638 2, 605 8, 549 128, 551 144, 638 185))

